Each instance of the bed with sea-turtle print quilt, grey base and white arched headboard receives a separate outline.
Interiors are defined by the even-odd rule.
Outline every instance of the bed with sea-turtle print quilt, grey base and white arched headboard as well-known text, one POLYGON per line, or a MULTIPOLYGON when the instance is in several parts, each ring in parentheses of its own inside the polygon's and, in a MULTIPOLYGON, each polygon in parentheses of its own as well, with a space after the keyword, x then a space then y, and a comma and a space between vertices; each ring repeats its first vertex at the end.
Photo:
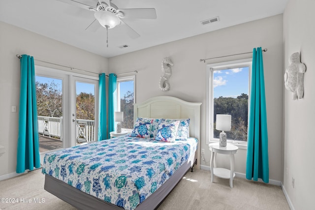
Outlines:
POLYGON ((189 138, 169 143, 126 135, 47 153, 44 189, 77 209, 157 209, 189 169, 199 169, 200 105, 171 96, 135 103, 136 124, 189 119, 189 138))

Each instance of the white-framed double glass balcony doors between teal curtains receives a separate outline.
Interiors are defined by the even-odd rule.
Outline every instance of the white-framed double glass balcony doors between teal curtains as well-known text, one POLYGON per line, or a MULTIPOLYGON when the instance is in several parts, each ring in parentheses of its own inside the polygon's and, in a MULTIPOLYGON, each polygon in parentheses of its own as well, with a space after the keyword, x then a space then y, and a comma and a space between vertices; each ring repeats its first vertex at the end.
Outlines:
POLYGON ((97 140, 98 77, 35 66, 41 161, 45 153, 97 140))

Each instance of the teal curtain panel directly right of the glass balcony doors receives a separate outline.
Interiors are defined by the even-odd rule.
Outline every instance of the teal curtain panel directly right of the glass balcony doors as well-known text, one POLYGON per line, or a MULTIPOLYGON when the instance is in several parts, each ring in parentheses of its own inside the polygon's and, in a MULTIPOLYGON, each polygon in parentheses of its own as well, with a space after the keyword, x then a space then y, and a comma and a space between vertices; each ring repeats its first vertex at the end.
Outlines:
POLYGON ((97 141, 106 139, 106 81, 105 73, 98 75, 98 135, 97 141))

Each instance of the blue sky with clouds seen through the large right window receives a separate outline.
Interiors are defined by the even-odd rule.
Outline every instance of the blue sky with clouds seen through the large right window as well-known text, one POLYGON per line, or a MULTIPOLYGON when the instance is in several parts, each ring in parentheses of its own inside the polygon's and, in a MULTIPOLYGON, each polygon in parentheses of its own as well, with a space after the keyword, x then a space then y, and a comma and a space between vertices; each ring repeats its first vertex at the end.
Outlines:
POLYGON ((213 73, 214 97, 236 98, 241 93, 248 94, 249 68, 233 68, 213 73))

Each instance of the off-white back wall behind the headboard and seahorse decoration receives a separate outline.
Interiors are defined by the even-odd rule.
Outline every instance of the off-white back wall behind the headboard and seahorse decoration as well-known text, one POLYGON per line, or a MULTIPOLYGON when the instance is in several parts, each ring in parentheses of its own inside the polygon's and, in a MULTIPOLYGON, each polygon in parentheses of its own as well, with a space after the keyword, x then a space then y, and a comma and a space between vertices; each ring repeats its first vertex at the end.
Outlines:
MULTIPOLYGON (((220 23, 218 23, 220 24, 220 23)), ((283 16, 277 15, 242 25, 209 32, 190 38, 158 45, 109 59, 110 72, 123 73, 138 70, 136 75, 136 102, 152 96, 170 95, 201 105, 201 149, 206 145, 206 65, 228 60, 251 58, 252 54, 199 62, 200 59, 251 52, 255 47, 268 48, 263 54, 269 136, 270 179, 281 181, 282 169, 282 122, 283 122, 283 16), (158 86, 162 75, 161 61, 170 57, 174 63, 169 91, 158 86)), ((239 150, 235 156, 235 170, 246 173, 246 152, 239 150)), ((221 158, 218 165, 229 166, 228 159, 221 158)), ((210 166, 210 162, 201 161, 210 166)))

